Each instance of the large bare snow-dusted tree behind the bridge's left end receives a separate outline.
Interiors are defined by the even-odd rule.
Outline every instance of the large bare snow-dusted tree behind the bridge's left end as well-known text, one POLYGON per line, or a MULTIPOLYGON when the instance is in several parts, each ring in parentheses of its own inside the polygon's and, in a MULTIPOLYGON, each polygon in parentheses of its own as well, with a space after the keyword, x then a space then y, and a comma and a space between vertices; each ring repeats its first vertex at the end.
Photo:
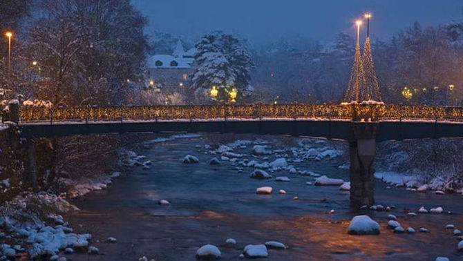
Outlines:
POLYGON ((38 0, 28 55, 38 61, 37 95, 67 106, 121 104, 142 81, 146 23, 129 0, 38 0))

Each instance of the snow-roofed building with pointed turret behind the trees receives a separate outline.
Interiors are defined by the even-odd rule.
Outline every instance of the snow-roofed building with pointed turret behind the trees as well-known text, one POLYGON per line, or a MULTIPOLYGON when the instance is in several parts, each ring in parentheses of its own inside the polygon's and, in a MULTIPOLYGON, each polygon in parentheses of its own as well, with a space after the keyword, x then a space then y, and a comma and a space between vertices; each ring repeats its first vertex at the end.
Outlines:
POLYGON ((149 86, 169 88, 185 87, 187 79, 193 73, 196 48, 185 52, 182 42, 178 41, 172 55, 153 55, 147 61, 149 86))

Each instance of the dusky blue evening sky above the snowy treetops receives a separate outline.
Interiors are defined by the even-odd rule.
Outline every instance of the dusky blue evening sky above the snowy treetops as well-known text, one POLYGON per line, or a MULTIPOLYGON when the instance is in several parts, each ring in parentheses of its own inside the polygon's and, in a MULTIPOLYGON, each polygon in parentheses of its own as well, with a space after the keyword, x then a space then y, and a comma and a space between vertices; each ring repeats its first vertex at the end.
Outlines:
POLYGON ((147 34, 169 32, 195 40, 212 30, 233 32, 250 43, 300 35, 331 41, 338 32, 355 35, 353 22, 372 12, 374 39, 419 21, 432 26, 463 21, 462 0, 131 0, 149 19, 147 34))

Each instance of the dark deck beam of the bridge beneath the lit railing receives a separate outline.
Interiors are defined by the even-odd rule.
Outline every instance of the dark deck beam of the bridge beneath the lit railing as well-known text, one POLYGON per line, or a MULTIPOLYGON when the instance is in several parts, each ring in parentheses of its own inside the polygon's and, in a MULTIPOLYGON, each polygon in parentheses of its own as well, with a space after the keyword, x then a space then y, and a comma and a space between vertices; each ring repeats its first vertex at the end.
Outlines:
POLYGON ((314 119, 216 119, 140 122, 40 122, 21 123, 23 137, 62 137, 104 133, 236 133, 292 135, 352 140, 352 124, 377 125, 377 141, 463 137, 463 124, 456 122, 350 122, 314 119))

